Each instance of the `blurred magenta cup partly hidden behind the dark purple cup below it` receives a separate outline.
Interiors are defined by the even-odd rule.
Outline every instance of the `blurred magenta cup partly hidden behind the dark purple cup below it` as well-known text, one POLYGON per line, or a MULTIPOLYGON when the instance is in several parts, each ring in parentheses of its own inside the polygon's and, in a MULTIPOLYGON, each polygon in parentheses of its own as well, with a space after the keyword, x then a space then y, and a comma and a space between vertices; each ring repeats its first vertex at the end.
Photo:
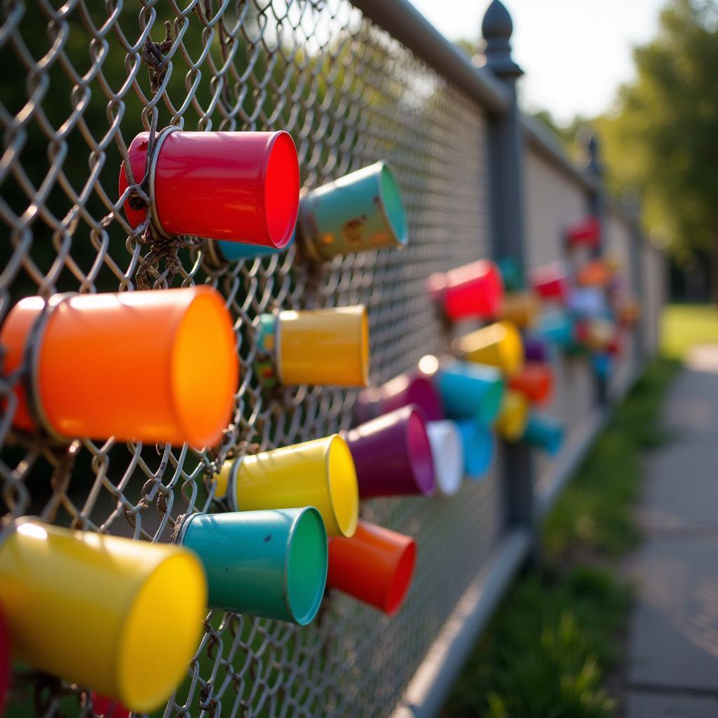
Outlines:
POLYGON ((411 404, 421 408, 426 421, 444 418, 442 400, 434 383, 418 371, 401 374, 383 386, 362 391, 354 404, 354 416, 356 421, 369 421, 411 404))

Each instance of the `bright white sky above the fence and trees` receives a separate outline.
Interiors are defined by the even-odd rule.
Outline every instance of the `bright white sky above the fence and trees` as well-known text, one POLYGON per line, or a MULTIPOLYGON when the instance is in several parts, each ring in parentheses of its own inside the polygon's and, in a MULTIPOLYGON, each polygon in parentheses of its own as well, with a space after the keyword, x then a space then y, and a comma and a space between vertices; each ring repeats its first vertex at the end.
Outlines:
MULTIPOLYGON (((449 40, 476 40, 488 0, 410 0, 449 40)), ((610 109, 634 77, 631 50, 655 37, 666 0, 503 0, 513 58, 526 75, 521 101, 561 123, 610 109)))

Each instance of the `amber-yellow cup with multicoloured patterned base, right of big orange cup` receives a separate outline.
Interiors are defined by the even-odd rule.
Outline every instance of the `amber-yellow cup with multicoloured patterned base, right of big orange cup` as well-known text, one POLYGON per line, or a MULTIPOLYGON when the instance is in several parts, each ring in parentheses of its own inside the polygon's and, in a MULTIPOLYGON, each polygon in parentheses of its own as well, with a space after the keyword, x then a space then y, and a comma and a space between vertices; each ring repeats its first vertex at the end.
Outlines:
POLYGON ((261 353, 274 357, 273 365, 258 366, 267 383, 367 385, 369 322, 365 307, 285 309, 279 314, 262 314, 258 327, 261 353))

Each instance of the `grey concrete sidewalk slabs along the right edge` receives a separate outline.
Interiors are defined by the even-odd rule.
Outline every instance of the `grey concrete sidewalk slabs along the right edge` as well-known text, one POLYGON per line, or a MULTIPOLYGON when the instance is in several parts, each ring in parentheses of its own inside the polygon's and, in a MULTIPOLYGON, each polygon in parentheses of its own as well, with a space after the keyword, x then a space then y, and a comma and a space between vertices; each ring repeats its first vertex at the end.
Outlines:
POLYGON ((689 356, 666 423, 676 438, 646 460, 645 541, 629 566, 625 716, 718 718, 718 347, 689 356))

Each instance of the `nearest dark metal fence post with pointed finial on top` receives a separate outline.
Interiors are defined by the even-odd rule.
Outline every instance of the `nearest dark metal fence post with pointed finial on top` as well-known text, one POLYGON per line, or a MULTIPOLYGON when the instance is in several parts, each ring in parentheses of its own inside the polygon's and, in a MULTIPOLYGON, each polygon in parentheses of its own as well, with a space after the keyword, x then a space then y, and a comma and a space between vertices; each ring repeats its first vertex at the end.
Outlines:
MULTIPOLYGON (((503 114, 489 118, 490 228, 494 258, 512 257, 524 267, 523 152, 521 112, 516 80, 523 70, 511 57, 513 22, 508 10, 493 0, 485 12, 481 32, 486 41, 486 66, 503 83, 510 103, 503 114)), ((501 465, 506 519, 512 526, 533 528, 533 457, 523 444, 502 442, 501 465)))

